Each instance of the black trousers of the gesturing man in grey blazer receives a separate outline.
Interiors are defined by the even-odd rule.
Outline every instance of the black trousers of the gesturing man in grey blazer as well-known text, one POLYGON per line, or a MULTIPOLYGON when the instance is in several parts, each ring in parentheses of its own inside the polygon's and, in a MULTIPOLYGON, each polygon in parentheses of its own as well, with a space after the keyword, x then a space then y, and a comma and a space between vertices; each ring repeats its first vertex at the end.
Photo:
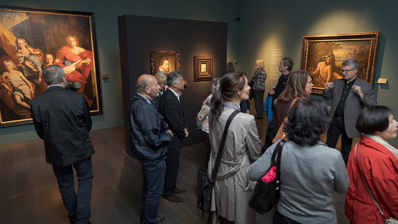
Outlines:
POLYGON ((330 124, 328 129, 326 145, 328 145, 330 148, 336 148, 336 144, 339 140, 340 134, 341 155, 343 156, 343 160, 345 162, 345 165, 347 166, 348 156, 351 152, 352 147, 352 138, 349 138, 347 136, 347 133, 345 133, 344 121, 339 120, 337 117, 333 117, 332 124, 330 124))

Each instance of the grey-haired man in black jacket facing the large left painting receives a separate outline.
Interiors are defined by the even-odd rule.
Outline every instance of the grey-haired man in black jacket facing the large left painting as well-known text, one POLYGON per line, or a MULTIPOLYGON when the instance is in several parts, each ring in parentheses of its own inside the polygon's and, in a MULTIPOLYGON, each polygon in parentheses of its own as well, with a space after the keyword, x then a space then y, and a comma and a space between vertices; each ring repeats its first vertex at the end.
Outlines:
POLYGON ((49 88, 31 101, 33 124, 44 140, 46 162, 53 165, 70 223, 91 223, 94 148, 88 135, 90 108, 83 94, 64 88, 65 73, 59 65, 48 66, 42 75, 49 88), (72 166, 79 182, 77 195, 72 166))

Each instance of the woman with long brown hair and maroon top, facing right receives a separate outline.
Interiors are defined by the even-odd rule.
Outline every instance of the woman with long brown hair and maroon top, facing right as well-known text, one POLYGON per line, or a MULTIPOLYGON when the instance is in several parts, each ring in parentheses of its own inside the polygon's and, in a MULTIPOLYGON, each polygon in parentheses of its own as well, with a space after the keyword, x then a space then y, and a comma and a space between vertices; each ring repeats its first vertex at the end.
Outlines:
POLYGON ((287 116, 293 100, 298 97, 308 97, 312 92, 313 75, 308 71, 293 71, 286 82, 286 87, 279 95, 275 105, 274 116, 276 119, 277 130, 281 127, 283 120, 287 116))

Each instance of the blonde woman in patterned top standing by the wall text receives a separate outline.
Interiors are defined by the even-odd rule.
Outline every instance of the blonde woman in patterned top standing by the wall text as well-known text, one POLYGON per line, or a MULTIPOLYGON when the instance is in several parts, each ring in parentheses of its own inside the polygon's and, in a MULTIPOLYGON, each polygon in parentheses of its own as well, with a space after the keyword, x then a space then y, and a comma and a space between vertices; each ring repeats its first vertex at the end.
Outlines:
POLYGON ((264 92, 265 92, 265 79, 267 73, 264 70, 264 61, 259 59, 256 61, 256 71, 252 75, 254 81, 254 107, 256 108, 256 119, 264 118, 264 92))

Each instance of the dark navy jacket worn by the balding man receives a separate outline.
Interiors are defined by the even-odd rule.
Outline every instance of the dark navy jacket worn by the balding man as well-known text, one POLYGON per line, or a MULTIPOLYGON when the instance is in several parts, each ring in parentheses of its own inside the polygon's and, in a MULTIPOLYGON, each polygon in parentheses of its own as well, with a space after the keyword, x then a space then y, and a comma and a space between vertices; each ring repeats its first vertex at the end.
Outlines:
POLYGON ((172 135, 166 132, 154 101, 147 99, 137 94, 129 102, 130 149, 140 162, 158 162, 167 158, 172 135))

